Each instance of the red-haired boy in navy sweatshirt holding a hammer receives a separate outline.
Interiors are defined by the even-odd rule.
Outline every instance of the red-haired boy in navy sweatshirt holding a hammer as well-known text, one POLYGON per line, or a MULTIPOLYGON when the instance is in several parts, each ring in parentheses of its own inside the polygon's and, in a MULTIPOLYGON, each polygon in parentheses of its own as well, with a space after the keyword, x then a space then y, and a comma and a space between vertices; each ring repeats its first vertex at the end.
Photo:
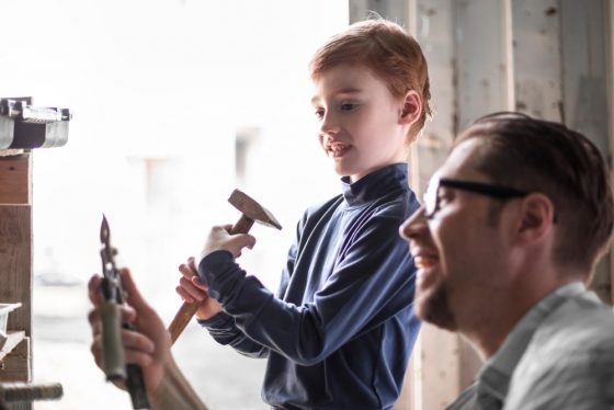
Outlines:
POLYGON ((407 158, 430 113, 427 61, 401 27, 369 20, 327 42, 310 73, 342 194, 305 212, 276 295, 236 264, 255 240, 229 226, 211 230, 200 280, 193 260, 180 266, 177 291, 204 300, 196 317, 216 341, 268 357, 273 408, 390 409, 419 331, 412 258, 391 232, 419 207, 407 158))

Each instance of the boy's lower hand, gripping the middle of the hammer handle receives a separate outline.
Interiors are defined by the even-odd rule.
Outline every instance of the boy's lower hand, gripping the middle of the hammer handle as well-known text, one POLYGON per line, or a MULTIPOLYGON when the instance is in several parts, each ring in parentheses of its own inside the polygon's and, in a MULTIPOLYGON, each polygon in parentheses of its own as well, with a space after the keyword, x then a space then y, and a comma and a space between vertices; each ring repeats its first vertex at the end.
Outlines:
POLYGON ((190 258, 187 263, 179 265, 179 272, 181 272, 182 276, 175 291, 186 303, 201 303, 195 314, 196 318, 201 320, 211 319, 221 311, 221 305, 213 297, 209 297, 207 287, 198 278, 194 258, 190 258))

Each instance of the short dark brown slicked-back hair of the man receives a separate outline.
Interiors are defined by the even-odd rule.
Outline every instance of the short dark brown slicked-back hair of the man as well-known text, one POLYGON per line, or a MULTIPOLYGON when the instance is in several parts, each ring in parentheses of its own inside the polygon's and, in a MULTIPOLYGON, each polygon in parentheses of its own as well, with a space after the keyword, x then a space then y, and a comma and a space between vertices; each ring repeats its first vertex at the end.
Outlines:
POLYGON ((541 192, 555 207, 558 235, 554 260, 594 267, 610 243, 613 198, 603 156, 585 136, 520 113, 496 113, 476 121, 455 140, 487 144, 470 161, 493 182, 541 192))

